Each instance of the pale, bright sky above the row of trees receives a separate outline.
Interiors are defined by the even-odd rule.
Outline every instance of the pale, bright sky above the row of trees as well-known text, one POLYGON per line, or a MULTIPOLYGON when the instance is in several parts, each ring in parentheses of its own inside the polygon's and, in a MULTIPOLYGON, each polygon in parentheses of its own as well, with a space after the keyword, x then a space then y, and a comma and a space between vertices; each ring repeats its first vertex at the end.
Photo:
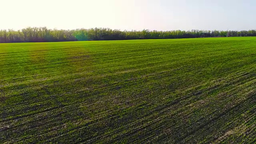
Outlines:
POLYGON ((256 0, 0 0, 0 29, 250 30, 256 0))

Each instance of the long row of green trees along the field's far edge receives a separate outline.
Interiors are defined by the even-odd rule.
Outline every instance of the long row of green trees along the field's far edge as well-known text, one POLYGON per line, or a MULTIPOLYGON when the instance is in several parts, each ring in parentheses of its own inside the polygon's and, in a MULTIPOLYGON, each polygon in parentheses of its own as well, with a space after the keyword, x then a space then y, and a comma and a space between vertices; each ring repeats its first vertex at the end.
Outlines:
POLYGON ((10 42, 64 42, 85 40, 138 40, 173 38, 256 36, 256 30, 219 31, 219 30, 112 30, 110 28, 90 28, 76 30, 57 30, 46 27, 28 27, 22 30, 0 30, 0 43, 10 42))

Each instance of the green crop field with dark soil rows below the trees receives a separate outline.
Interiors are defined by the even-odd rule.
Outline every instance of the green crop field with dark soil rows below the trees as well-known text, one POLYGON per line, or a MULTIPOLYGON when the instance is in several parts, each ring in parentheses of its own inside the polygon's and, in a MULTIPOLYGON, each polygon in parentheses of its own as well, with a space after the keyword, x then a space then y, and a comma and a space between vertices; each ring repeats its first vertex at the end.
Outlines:
POLYGON ((0 143, 256 143, 256 37, 0 44, 0 143))

